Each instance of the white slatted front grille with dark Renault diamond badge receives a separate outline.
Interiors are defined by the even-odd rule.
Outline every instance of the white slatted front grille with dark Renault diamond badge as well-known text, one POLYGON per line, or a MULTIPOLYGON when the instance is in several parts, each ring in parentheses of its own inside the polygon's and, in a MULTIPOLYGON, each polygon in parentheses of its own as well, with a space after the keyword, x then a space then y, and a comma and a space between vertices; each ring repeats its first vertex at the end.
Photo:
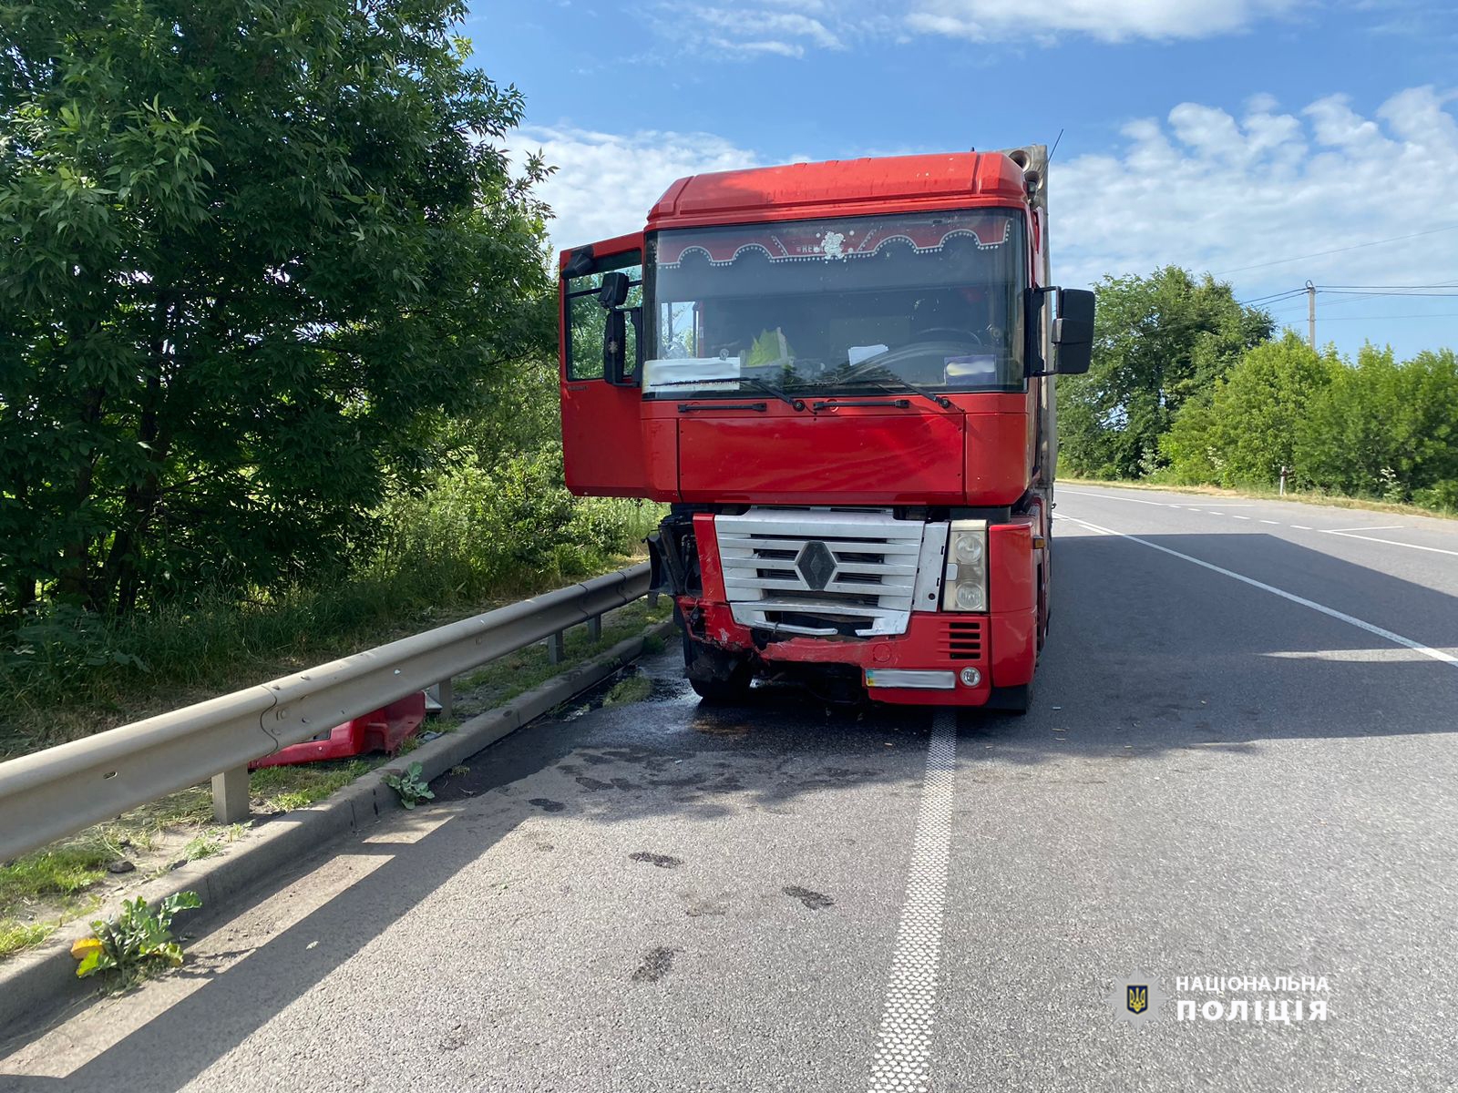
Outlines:
POLYGON ((904 634, 924 528, 889 510, 719 516, 719 560, 735 621, 793 634, 904 634))

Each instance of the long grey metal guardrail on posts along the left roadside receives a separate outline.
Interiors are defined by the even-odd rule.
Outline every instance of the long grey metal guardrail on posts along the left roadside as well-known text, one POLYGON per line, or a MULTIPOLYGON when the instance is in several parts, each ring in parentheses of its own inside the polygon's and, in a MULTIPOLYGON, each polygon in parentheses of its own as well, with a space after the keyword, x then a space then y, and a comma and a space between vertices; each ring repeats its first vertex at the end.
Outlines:
POLYGON ((601 632, 602 614, 647 584, 644 563, 3 762, 0 861, 207 778, 217 819, 243 819, 254 759, 544 638, 555 663, 564 630, 586 622, 601 632))

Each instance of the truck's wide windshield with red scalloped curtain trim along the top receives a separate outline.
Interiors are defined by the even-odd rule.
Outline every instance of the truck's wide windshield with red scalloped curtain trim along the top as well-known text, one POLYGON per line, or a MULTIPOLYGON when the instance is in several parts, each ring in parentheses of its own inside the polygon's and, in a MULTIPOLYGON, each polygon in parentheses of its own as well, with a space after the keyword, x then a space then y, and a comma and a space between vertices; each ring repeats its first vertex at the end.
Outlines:
POLYGON ((649 238, 643 391, 859 393, 1024 386, 1022 220, 901 213, 649 238))

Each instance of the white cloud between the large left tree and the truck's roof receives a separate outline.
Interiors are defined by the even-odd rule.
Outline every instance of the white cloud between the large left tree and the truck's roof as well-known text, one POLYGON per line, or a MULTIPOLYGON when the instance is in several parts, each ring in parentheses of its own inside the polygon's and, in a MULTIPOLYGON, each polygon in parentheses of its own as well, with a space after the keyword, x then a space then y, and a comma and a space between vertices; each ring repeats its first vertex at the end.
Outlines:
POLYGON ((558 249, 642 229, 653 203, 685 175, 763 165, 754 152, 709 133, 529 127, 509 143, 516 162, 539 149, 557 168, 537 192, 555 214, 548 230, 558 249))

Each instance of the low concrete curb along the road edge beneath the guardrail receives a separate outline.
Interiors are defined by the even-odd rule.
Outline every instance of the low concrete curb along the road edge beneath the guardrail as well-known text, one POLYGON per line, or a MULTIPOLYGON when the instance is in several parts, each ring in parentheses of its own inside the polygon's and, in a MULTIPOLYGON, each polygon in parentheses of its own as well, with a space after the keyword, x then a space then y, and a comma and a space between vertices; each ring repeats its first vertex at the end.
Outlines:
MULTIPOLYGON (((643 654, 649 638, 666 637, 675 625, 672 621, 658 622, 637 637, 620 641, 602 656, 548 679, 503 707, 472 717, 455 732, 423 743, 395 762, 364 774, 319 804, 268 820, 251 838, 222 855, 181 866, 147 882, 134 890, 131 898, 140 895, 149 904, 156 904, 176 892, 197 892, 203 898, 203 906, 185 918, 178 917, 179 924, 185 922, 188 930, 195 930, 220 912, 226 912, 235 896, 281 867, 292 866, 330 839, 350 831, 363 831, 378 823, 382 816, 399 810, 402 807, 399 799, 381 781, 382 775, 402 774, 410 764, 418 762, 427 781, 440 777, 483 748, 515 733, 528 721, 633 663, 643 654)), ((95 981, 76 978, 71 943, 90 936, 89 922, 93 918, 105 918, 118 909, 117 905, 106 905, 96 914, 87 915, 85 921, 69 922, 44 944, 0 965, 0 1029, 4 1029, 4 1036, 0 1039, 10 1041, 12 1033, 31 1030, 64 1006, 83 1001, 96 992, 95 981)))

